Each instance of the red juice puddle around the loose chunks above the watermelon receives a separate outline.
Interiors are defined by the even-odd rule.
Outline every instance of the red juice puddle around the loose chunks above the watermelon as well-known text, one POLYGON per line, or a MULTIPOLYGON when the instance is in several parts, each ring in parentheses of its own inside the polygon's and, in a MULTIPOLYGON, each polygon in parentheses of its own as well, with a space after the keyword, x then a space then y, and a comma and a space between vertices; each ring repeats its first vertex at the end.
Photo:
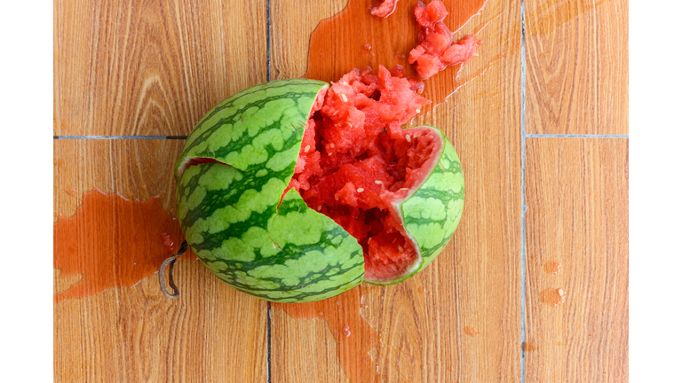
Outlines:
MULTIPOLYGON (((424 2, 428 3, 428 2, 424 2)), ((486 0, 442 0, 448 10, 443 20, 450 31, 457 31, 471 20, 486 0)), ((390 16, 372 16, 366 0, 349 0, 345 9, 337 15, 321 20, 310 37, 308 67, 304 77, 325 82, 337 81, 349 70, 365 68, 375 71, 379 65, 387 68, 400 65, 405 75, 416 79, 415 66, 409 64, 409 53, 419 45, 420 26, 416 21, 416 0, 400 0, 390 16), (371 50, 364 48, 366 45, 371 50)), ((455 39, 464 34, 455 32, 455 39)), ((439 105, 464 82, 456 77, 462 64, 447 66, 426 83, 424 98, 432 100, 422 112, 439 105), (437 86, 429 85, 437 83, 437 86)))

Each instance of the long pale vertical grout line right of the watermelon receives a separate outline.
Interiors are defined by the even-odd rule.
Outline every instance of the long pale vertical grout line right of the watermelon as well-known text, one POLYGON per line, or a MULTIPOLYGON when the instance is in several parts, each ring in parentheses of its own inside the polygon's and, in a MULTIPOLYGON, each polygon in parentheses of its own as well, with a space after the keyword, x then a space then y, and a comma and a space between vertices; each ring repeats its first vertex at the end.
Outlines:
POLYGON ((526 382, 526 16, 521 0, 521 369, 520 383, 526 382))

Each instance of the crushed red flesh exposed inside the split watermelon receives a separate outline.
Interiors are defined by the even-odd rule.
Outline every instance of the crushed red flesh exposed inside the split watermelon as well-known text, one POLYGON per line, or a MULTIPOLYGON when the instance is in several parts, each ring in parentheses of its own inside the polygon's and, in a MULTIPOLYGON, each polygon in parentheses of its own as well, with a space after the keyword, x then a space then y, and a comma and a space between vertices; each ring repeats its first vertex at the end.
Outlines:
POLYGON ((431 101, 400 66, 357 69, 332 82, 313 105, 289 188, 362 246, 365 280, 408 275, 421 260, 400 203, 424 183, 443 151, 436 129, 400 129, 431 101))

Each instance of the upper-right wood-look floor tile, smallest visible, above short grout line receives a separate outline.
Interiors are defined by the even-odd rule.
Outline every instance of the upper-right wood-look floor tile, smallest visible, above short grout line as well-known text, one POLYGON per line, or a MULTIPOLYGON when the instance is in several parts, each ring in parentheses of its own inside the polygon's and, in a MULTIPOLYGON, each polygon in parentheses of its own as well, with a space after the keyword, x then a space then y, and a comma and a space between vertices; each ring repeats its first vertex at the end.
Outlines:
POLYGON ((628 134, 627 0, 528 0, 526 133, 628 134))

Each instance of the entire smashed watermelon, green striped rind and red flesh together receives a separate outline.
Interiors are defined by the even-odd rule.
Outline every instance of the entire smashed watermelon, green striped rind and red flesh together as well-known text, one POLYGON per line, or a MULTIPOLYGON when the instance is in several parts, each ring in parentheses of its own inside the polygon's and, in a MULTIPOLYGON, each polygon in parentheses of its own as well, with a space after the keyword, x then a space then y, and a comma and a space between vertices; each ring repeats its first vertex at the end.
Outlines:
POLYGON ((381 66, 330 87, 268 82, 216 106, 176 165, 194 254, 234 288, 282 302, 424 269, 456 229, 464 176, 439 129, 401 128, 429 103, 422 89, 381 66))

